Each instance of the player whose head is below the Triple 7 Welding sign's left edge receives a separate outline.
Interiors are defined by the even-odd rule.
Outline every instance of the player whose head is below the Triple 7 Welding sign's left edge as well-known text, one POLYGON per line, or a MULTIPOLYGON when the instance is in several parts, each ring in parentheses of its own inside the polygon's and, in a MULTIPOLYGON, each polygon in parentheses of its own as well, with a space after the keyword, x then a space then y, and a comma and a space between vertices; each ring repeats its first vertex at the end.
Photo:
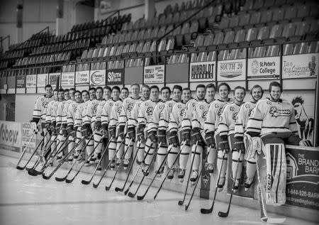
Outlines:
MULTIPOLYGON (((143 101, 147 101, 150 99, 150 87, 147 84, 143 84, 142 86, 142 98, 135 101, 133 104, 133 109, 128 113, 126 116, 126 119, 128 120, 126 122, 127 124, 127 136, 129 139, 131 139, 133 142, 135 142, 136 138, 136 129, 138 126, 138 113, 140 111, 140 104, 142 104, 143 101)), ((122 111, 123 112, 123 111, 122 111)), ((121 116, 121 119, 123 119, 123 122, 125 121, 125 117, 121 116)), ((122 122, 122 123, 123 123, 122 122)), ((128 146, 128 143, 125 141, 125 145, 128 146)), ((123 168, 128 168, 128 165, 130 163, 130 157, 132 155, 132 148, 128 148, 128 153, 125 154, 125 158, 123 160, 123 168)), ((144 150, 145 150, 145 143, 139 143, 138 144, 138 156, 136 158, 136 162, 140 164, 142 161, 142 158, 144 156, 144 150)))

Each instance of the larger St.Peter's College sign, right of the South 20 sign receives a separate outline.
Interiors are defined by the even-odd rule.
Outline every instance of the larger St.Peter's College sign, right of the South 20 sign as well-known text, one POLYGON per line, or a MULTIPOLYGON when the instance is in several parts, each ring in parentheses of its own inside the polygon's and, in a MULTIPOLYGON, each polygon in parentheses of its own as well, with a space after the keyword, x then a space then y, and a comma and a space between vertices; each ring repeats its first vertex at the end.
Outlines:
POLYGON ((247 79, 279 78, 280 57, 257 57, 248 59, 247 79))

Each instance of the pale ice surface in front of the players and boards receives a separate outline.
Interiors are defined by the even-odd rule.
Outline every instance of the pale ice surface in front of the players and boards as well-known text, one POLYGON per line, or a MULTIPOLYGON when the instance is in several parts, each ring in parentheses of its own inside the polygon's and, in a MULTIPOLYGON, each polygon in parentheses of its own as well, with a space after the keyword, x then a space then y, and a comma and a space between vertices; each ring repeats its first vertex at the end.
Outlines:
MULTIPOLYGON (((162 190, 156 201, 152 200, 156 189, 151 188, 145 199, 138 202, 115 192, 123 181, 116 180, 110 191, 105 185, 111 179, 104 178, 95 189, 92 185, 82 185, 81 180, 89 174, 80 173, 71 184, 56 182, 55 176, 62 177, 67 170, 57 170, 50 180, 39 175, 32 177, 26 170, 16 170, 18 160, 0 155, 0 224, 262 224, 259 211, 232 205, 228 218, 218 217, 218 211, 226 210, 227 204, 216 202, 212 214, 203 215, 201 207, 210 207, 211 201, 194 197, 188 211, 179 207, 181 193, 162 190)), ((26 161, 21 162, 26 163, 26 161)), ((50 169, 52 170, 52 169, 50 169)), ((93 182, 98 180, 99 177, 93 182)), ((135 191, 137 185, 130 189, 135 191)), ((145 191, 142 186, 138 194, 145 191)), ((189 196, 186 197, 188 202, 189 196)), ((269 216, 274 216, 269 214, 269 216)), ((276 216, 282 217, 282 216, 276 216)), ((288 218, 285 224, 311 224, 288 218)))

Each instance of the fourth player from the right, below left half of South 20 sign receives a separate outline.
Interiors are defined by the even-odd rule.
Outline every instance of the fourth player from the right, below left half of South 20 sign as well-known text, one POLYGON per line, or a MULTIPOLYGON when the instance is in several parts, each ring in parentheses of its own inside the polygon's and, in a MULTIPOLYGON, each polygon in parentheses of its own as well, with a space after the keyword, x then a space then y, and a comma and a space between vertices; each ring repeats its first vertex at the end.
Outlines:
MULTIPOLYGON (((206 163, 206 170, 208 172, 213 173, 214 171, 214 163, 216 160, 218 145, 219 145, 219 131, 218 131, 218 124, 219 124, 219 117, 221 112, 223 111, 223 106, 228 104, 232 101, 228 96, 230 94, 230 87, 227 83, 222 82, 218 85, 217 91, 219 94, 220 99, 216 99, 211 103, 208 109, 208 115, 205 121, 204 129, 206 131, 205 141, 207 146, 211 147, 211 151, 208 154, 207 163, 206 163)), ((218 165, 221 165, 221 159, 218 158, 218 165)))

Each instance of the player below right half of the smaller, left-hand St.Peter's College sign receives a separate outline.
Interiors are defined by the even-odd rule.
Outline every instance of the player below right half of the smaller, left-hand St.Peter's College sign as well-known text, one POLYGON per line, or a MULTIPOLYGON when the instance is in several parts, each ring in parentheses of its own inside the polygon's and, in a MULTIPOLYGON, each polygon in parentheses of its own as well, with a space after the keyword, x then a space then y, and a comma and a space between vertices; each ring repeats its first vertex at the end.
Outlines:
MULTIPOLYGON (((75 111, 75 121, 74 121, 74 131, 76 131, 76 136, 77 136, 77 139, 75 141, 75 143, 79 143, 79 141, 82 140, 82 119, 84 118, 84 115, 85 115, 85 111, 86 111, 86 108, 89 104, 89 102, 91 101, 89 99, 89 92, 84 90, 82 91, 82 99, 83 99, 83 102, 81 104, 79 104, 77 106, 77 111, 75 111)), ((94 89, 94 94, 95 94, 95 89, 94 89)), ((75 148, 75 153, 74 153, 74 160, 77 160, 77 163, 81 163, 82 160, 84 159, 84 156, 83 154, 85 153, 84 151, 84 142, 82 141, 82 143, 79 143, 79 145, 77 146, 77 148, 75 148), (82 154, 80 154, 80 152, 82 151, 82 154)))

